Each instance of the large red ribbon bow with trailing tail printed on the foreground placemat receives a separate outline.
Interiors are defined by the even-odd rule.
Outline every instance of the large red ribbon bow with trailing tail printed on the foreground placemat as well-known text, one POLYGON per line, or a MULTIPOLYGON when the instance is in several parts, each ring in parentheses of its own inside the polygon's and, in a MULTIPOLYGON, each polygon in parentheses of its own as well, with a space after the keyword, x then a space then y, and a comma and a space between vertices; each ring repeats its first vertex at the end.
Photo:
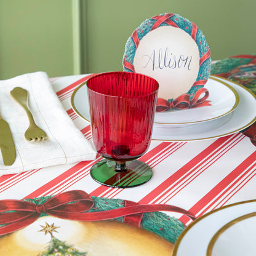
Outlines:
POLYGON ((137 204, 124 201, 125 206, 99 212, 86 212, 94 206, 94 201, 82 190, 67 191, 50 198, 44 204, 34 204, 23 200, 0 201, 0 235, 12 233, 30 225, 42 213, 68 220, 95 222, 124 217, 124 222, 140 226, 140 220, 145 212, 170 211, 185 214, 194 220, 196 217, 184 209, 165 204, 137 204), (9 212, 14 211, 14 212, 9 212))

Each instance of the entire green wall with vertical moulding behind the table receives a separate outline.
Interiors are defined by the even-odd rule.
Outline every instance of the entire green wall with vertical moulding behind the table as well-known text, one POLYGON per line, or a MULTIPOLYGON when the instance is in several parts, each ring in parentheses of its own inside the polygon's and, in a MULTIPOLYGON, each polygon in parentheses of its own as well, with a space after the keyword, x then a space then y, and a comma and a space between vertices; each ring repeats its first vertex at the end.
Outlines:
POLYGON ((255 10, 255 0, 0 0, 0 79, 122 70, 135 28, 166 12, 196 23, 213 60, 256 54, 255 10))

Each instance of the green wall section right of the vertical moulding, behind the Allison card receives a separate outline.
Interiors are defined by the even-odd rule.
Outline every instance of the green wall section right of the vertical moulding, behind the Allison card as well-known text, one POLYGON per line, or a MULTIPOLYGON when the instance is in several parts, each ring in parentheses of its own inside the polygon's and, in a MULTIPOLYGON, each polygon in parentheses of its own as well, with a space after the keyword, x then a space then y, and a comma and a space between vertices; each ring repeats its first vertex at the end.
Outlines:
POLYGON ((87 71, 122 69, 124 46, 146 18, 166 12, 194 22, 213 60, 256 54, 255 0, 88 0, 87 71))

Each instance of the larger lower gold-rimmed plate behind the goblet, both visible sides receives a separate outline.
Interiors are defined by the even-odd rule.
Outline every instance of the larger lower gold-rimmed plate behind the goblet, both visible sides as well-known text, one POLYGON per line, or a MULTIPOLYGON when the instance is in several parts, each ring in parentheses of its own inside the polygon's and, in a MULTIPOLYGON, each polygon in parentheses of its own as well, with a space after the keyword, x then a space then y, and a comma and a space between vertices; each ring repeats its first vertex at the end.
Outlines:
MULTIPOLYGON (((228 114, 207 122, 189 124, 185 127, 162 127, 154 124, 153 140, 192 141, 218 138, 239 132, 256 121, 256 97, 252 92, 225 78, 214 79, 233 87, 239 95, 239 103, 228 114)), ((82 119, 90 122, 86 84, 81 84, 71 95, 71 106, 82 119)))

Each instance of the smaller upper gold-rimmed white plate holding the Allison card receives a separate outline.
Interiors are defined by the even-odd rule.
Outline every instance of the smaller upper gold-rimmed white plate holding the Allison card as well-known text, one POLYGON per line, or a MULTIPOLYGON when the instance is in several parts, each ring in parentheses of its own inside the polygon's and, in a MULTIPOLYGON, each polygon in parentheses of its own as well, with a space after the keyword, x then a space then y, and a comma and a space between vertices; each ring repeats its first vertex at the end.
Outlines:
POLYGON ((231 113, 239 103, 236 90, 226 82, 210 76, 204 86, 209 91, 210 106, 156 113, 154 126, 185 127, 199 122, 212 121, 231 113))

